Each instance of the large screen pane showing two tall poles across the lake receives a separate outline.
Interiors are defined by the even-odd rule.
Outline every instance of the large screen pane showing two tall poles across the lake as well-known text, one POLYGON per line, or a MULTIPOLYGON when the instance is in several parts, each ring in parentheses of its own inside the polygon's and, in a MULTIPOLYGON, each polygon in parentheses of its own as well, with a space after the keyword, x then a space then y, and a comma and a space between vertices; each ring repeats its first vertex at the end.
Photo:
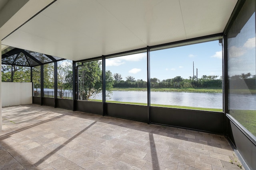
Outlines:
POLYGON ((150 52, 151 106, 222 111, 218 41, 150 52))

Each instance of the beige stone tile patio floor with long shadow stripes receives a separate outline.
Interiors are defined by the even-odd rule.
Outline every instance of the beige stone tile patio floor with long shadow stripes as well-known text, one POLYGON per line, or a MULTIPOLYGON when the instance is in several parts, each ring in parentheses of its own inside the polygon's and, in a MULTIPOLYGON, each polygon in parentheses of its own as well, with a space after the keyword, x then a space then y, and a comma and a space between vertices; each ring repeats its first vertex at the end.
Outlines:
POLYGON ((239 170, 239 165, 221 135, 34 104, 2 109, 3 170, 239 170))

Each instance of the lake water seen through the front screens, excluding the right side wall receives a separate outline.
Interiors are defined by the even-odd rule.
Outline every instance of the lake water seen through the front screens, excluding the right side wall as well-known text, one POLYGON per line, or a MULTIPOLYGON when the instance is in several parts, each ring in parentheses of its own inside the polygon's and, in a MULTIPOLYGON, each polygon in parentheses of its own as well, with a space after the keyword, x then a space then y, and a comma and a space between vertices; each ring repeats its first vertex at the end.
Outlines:
MULTIPOLYGON (((222 93, 151 92, 151 104, 222 109, 222 93)), ((96 96, 101 100, 102 97, 96 96)), ((147 92, 113 91, 111 101, 147 103, 147 92)))

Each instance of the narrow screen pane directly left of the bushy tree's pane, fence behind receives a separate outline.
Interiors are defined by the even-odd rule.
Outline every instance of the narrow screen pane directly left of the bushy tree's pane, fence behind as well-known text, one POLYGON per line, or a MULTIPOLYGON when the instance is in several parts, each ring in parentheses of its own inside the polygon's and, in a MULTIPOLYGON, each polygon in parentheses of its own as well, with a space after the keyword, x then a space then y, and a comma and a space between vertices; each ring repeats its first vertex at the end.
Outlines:
POLYGON ((58 98, 73 99, 72 61, 58 61, 58 98))

